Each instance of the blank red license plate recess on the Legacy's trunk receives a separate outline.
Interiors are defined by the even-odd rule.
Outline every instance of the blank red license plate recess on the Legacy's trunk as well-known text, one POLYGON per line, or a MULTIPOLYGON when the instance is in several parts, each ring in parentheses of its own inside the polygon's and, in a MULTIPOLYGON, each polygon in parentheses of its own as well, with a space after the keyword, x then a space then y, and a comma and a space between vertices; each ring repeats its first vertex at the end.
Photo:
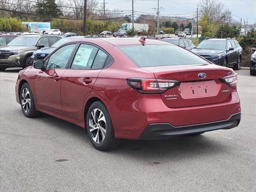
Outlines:
POLYGON ((214 80, 182 82, 179 92, 184 99, 212 97, 218 94, 218 86, 214 80))

